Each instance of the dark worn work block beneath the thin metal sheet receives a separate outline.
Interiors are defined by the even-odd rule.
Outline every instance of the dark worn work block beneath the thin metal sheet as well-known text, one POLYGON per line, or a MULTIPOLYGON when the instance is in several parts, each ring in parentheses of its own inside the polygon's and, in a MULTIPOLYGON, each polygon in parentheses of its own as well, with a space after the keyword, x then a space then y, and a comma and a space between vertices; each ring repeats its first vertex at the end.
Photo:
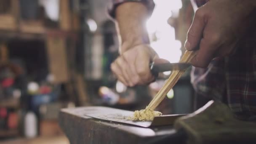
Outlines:
POLYGON ((141 128, 96 120, 85 116, 84 109, 61 109, 59 113, 59 124, 71 144, 146 144, 176 133, 172 126, 141 128))

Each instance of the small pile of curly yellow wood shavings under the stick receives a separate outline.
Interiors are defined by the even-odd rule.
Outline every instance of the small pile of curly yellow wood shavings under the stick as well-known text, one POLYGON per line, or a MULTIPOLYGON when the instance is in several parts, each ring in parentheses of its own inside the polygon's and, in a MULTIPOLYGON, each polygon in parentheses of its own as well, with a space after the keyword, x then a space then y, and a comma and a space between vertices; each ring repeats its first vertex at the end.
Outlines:
POLYGON ((146 109, 136 110, 129 120, 152 121, 154 117, 162 115, 161 112, 154 111, 146 107, 146 109))

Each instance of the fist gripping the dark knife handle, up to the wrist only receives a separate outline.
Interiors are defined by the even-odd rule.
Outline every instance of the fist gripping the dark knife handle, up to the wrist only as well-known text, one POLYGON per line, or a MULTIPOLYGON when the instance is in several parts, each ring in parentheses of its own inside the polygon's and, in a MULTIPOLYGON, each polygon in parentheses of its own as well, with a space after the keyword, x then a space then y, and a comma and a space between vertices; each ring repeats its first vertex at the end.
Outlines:
POLYGON ((121 53, 111 64, 111 69, 127 86, 147 84, 154 80, 149 63, 156 58, 158 58, 157 53, 149 45, 136 45, 121 53))

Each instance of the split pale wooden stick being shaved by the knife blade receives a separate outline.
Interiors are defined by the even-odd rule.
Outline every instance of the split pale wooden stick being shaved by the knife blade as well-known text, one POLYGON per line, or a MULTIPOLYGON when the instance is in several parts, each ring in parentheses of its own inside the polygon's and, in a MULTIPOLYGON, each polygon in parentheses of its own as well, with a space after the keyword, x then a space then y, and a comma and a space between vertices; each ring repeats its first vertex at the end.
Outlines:
MULTIPOLYGON (((190 63, 191 59, 195 57, 196 53, 197 51, 186 51, 181 57, 180 62, 190 63)), ((166 94, 171 90, 171 88, 173 88, 173 86, 177 83, 177 81, 185 71, 186 70, 172 71, 166 83, 163 85, 160 91, 158 91, 157 95, 152 99, 147 108, 154 110, 160 104, 160 102, 163 101, 166 94)))

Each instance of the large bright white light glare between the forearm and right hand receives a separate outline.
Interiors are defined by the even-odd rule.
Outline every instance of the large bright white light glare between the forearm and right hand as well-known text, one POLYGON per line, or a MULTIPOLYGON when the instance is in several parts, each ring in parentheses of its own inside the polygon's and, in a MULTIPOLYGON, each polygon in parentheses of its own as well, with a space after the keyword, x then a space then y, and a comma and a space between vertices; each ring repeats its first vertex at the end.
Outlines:
POLYGON ((175 38, 175 30, 167 21, 172 11, 179 11, 181 0, 154 0, 155 9, 146 23, 149 35, 155 35, 156 41, 151 43, 152 48, 162 59, 170 62, 179 62, 181 58, 181 42, 175 38))

